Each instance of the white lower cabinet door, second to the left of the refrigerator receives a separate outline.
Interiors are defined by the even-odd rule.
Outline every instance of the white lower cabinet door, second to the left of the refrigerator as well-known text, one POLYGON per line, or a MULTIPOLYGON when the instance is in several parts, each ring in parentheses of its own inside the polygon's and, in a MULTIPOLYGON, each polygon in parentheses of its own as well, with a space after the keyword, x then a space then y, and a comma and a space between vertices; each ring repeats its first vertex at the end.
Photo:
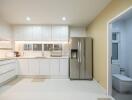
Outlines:
POLYGON ((50 60, 50 72, 51 75, 59 75, 59 59, 50 60))

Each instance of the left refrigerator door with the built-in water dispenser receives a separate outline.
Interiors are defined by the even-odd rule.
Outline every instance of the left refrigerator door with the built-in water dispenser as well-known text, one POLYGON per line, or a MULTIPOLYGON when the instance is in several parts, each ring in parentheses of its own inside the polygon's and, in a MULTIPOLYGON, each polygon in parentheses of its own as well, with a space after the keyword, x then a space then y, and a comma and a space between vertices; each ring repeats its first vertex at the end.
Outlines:
POLYGON ((79 79, 79 38, 72 38, 70 57, 70 79, 79 79))

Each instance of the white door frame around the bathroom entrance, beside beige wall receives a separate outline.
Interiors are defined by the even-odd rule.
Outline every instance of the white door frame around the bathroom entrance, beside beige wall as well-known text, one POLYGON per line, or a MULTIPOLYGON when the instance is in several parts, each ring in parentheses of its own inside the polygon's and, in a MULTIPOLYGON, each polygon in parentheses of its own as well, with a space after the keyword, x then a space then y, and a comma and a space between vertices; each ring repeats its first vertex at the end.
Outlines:
POLYGON ((112 23, 115 22, 118 18, 125 15, 127 12, 132 11, 132 6, 128 7, 126 10, 112 18, 107 22, 107 95, 112 95, 112 23))

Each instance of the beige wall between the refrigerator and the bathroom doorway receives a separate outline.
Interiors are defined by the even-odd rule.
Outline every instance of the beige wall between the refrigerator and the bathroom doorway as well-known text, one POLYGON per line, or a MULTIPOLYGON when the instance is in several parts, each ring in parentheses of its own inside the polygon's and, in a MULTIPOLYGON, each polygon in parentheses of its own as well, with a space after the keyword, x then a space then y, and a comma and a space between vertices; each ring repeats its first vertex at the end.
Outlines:
POLYGON ((130 6, 132 0, 112 0, 87 27, 88 36, 94 39, 94 78, 104 88, 107 88, 107 22, 130 6))

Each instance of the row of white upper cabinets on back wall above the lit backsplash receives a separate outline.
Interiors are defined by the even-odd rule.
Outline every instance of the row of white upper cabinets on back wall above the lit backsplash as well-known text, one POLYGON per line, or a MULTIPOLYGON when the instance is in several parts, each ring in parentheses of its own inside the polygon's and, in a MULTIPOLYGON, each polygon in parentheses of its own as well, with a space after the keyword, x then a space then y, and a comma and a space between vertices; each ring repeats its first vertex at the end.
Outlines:
POLYGON ((20 25, 14 27, 16 41, 68 41, 66 25, 20 25))

